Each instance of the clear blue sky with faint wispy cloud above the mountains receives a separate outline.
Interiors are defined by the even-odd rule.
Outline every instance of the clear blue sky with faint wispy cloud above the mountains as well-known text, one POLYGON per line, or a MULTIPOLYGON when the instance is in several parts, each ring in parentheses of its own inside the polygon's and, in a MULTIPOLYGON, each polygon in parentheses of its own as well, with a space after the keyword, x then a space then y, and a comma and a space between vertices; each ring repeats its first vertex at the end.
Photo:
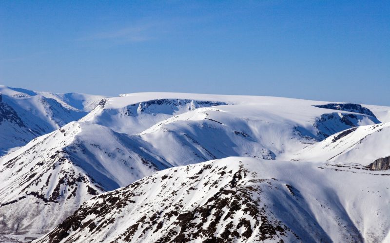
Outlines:
POLYGON ((390 1, 2 0, 0 83, 390 105, 390 1))

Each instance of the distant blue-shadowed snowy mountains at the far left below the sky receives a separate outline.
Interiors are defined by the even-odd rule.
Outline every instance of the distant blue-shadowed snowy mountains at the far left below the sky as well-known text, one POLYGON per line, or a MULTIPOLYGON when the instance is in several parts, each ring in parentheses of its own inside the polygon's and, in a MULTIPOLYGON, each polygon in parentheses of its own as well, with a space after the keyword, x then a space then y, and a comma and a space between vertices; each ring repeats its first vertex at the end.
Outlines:
POLYGON ((104 98, 0 86, 0 156, 37 136, 78 120, 104 98))

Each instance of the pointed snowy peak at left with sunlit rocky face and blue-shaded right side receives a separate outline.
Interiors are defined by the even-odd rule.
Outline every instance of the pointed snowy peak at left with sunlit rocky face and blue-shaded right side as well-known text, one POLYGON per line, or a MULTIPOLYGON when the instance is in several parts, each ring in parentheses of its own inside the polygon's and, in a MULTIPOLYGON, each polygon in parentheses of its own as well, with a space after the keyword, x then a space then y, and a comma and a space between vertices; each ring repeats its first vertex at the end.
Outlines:
POLYGON ((171 167, 136 138, 71 122, 0 158, 0 233, 42 233, 92 195, 171 167))

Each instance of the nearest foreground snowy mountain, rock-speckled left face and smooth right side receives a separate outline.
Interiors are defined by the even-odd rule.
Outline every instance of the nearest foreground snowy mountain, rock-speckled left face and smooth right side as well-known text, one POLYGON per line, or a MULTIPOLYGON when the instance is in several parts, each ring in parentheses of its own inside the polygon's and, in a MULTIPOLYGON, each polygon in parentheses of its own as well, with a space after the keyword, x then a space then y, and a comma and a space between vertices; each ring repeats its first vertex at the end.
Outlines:
POLYGON ((36 242, 388 241, 389 175, 240 157, 171 168, 92 198, 36 242))

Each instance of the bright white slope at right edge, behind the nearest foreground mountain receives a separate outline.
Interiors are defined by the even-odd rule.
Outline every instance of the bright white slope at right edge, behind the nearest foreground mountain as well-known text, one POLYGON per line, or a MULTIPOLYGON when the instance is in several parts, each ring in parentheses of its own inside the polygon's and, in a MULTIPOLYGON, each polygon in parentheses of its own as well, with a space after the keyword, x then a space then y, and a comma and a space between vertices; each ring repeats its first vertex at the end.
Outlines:
POLYGON ((390 155, 390 123, 361 126, 336 133, 306 147, 293 160, 352 162, 368 165, 390 155))

